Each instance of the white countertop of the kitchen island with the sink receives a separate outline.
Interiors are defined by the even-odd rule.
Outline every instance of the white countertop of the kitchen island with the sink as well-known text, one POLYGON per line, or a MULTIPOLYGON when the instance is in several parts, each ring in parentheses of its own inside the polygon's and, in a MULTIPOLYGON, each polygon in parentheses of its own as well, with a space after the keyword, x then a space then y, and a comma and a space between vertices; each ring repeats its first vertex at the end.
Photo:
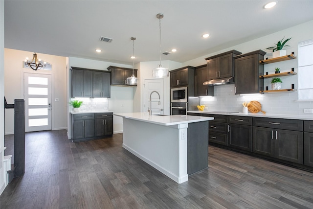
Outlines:
POLYGON ((184 123, 194 123, 207 120, 213 120, 214 117, 203 117, 203 116, 185 116, 185 115, 176 115, 176 116, 158 116, 152 115, 149 116, 149 113, 114 113, 114 116, 121 116, 129 119, 139 120, 148 123, 154 123, 158 125, 178 125, 184 123))

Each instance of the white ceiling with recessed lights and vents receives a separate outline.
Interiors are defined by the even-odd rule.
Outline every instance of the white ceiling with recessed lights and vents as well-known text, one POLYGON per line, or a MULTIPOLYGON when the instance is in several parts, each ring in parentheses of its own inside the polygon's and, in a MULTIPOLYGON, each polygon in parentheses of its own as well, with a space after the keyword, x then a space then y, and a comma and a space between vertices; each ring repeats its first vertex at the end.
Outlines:
MULTIPOLYGON (((5 0, 4 47, 131 64, 186 62, 313 20, 313 0, 5 0), (202 34, 209 33, 208 39, 202 34), (100 42, 100 36, 114 39, 100 42), (100 48, 101 53, 95 49, 100 48)), ((275 40, 276 41, 276 40, 275 40)), ((277 40, 278 41, 278 40, 277 40)), ((275 42, 273 42, 275 43, 275 42)))

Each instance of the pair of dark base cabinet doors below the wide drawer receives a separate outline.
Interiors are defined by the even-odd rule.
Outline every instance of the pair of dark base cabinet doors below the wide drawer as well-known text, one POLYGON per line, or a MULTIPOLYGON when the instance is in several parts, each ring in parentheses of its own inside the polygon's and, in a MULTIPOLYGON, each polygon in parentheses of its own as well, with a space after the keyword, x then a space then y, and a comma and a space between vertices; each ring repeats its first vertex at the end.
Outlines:
POLYGON ((253 127, 253 152, 303 164, 303 134, 300 131, 253 127))

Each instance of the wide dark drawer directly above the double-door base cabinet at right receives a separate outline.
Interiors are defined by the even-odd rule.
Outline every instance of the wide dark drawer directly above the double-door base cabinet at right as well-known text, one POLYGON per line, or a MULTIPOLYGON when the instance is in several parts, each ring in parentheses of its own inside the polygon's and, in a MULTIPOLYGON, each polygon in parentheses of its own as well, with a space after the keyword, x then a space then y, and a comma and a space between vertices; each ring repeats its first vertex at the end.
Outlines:
POLYGON ((253 126, 303 131, 303 121, 293 119, 253 117, 253 126))

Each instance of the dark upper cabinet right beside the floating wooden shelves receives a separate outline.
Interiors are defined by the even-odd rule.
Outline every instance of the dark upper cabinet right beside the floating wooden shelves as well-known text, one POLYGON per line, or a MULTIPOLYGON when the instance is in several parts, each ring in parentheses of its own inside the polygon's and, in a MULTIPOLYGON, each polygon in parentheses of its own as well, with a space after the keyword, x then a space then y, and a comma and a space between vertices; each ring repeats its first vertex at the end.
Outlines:
POLYGON ((265 51, 257 50, 234 57, 235 94, 259 93, 264 90, 264 60, 265 51))

